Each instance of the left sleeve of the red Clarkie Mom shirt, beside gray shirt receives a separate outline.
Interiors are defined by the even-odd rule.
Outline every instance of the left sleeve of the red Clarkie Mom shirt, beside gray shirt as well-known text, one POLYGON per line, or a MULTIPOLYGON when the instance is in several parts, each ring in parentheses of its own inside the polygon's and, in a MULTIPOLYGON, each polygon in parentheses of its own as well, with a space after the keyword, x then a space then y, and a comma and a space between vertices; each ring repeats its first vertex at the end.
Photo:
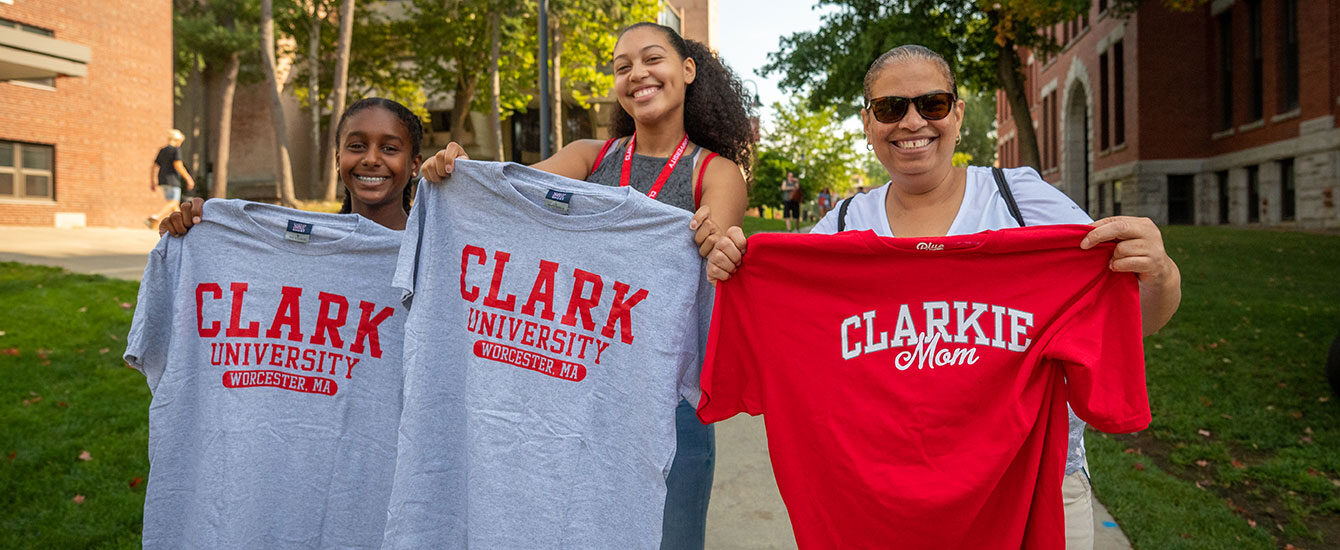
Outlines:
POLYGON ((756 416, 762 413, 757 354, 750 342, 764 339, 752 334, 750 313, 742 276, 717 284, 708 351, 702 362, 702 397, 698 401, 698 420, 704 424, 726 420, 741 412, 756 416))

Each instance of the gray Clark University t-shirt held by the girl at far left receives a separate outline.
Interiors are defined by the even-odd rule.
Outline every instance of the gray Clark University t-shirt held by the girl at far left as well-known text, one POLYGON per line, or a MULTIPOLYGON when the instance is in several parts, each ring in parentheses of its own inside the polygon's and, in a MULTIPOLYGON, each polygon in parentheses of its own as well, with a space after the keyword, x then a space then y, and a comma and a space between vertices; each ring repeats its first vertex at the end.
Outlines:
POLYGON ((150 252, 126 338, 153 392, 143 546, 379 546, 401 232, 237 200, 205 212, 150 252))

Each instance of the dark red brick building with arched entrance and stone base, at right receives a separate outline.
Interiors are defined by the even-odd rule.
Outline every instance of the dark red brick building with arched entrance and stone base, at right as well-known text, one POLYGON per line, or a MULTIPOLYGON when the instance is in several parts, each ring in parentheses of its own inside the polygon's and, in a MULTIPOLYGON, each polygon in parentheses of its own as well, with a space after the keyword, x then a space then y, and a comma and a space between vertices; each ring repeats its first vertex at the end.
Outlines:
MULTIPOLYGON (((1108 1, 1024 54, 1043 177, 1093 217, 1340 227, 1340 4, 1108 1)), ((998 158, 1018 165, 997 93, 998 158)))

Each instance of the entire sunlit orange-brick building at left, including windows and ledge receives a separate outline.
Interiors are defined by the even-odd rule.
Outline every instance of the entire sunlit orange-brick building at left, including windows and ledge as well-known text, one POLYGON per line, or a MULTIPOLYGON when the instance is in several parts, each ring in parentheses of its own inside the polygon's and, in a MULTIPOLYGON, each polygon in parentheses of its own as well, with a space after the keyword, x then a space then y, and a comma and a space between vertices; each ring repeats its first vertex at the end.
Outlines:
POLYGON ((0 0, 0 224, 138 225, 173 123, 172 3, 0 0))

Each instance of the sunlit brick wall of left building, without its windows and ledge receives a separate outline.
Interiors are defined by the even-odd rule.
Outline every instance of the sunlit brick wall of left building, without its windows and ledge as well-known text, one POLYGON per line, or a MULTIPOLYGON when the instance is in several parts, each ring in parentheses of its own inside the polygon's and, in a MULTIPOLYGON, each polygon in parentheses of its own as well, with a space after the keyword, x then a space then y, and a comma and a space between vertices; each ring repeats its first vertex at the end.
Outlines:
POLYGON ((0 17, 92 51, 88 75, 58 78, 55 91, 0 82, 0 140, 56 154, 55 201, 0 201, 0 224, 50 225, 56 212, 139 224, 162 204, 149 169, 172 129, 172 1, 15 0, 0 17))

